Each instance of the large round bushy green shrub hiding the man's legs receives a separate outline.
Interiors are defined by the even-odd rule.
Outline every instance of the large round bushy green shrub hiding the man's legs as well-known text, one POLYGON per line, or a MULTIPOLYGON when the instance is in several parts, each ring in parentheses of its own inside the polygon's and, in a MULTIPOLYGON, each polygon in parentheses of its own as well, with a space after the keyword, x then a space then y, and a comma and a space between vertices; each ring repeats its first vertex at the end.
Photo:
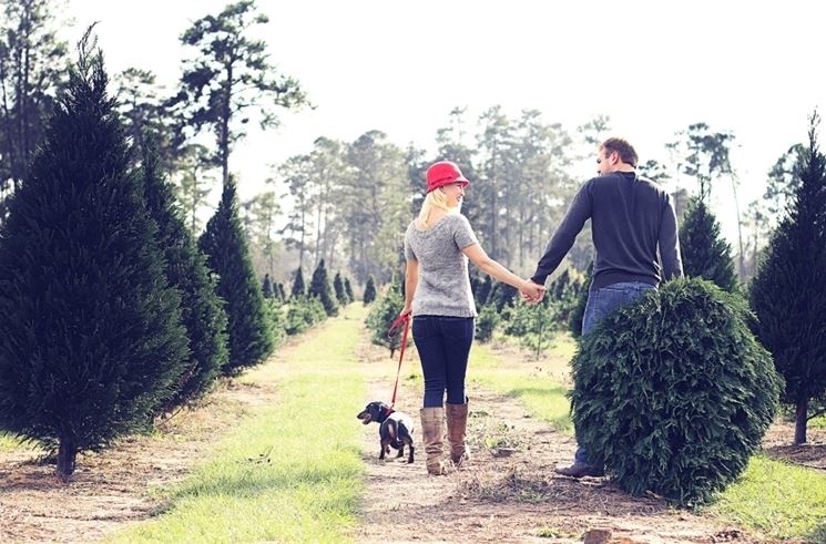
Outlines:
POLYGON ((781 388, 747 314, 737 295, 677 279, 581 338, 577 439, 620 487, 690 504, 743 472, 781 388))

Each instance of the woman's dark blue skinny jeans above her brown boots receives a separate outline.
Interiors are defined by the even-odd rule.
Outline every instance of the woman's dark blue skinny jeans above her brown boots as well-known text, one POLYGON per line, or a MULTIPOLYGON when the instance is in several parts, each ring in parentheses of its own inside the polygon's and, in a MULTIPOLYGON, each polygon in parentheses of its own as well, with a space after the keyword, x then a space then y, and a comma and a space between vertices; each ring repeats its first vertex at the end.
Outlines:
POLYGON ((416 316, 414 341, 425 374, 425 408, 465 403, 465 374, 473 342, 472 317, 416 316))

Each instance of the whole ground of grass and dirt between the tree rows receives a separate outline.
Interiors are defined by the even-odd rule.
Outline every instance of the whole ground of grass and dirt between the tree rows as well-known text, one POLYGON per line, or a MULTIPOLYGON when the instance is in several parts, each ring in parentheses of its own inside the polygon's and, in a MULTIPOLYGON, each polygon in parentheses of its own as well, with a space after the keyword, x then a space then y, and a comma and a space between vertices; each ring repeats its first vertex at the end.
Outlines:
MULTIPOLYGON (((379 461, 377 427, 355 414, 389 401, 397 360, 369 343, 366 315, 350 305, 152 434, 82 454, 70 483, 44 452, 1 438, 0 541, 582 542, 596 530, 604 542, 826 541, 818 423, 793 448, 778 421, 743 478, 702 507, 554 475, 575 448, 565 336, 539 359, 497 337, 475 345, 467 466, 428 476, 421 448, 412 464, 379 461)), ((418 424, 408 353, 396 408, 418 424)))

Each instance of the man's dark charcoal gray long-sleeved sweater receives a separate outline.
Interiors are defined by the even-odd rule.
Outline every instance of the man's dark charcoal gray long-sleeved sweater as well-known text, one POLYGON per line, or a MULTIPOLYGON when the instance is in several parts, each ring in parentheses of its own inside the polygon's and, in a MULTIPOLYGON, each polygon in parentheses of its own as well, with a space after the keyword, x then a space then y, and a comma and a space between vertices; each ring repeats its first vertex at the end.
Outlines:
POLYGON ((596 248, 592 290, 620 281, 657 285, 683 275, 671 197, 634 172, 615 172, 580 187, 537 265, 533 281, 544 284, 589 218, 596 248))

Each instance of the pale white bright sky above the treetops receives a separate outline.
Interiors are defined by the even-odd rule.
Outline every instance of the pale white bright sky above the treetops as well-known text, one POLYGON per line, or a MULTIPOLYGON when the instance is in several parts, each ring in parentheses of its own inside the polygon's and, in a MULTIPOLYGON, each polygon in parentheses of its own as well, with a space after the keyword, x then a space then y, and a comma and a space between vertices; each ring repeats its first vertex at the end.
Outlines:
MULTIPOLYGON (((91 22, 110 73, 152 70, 174 89, 187 54, 180 35, 217 14, 216 0, 69 0, 72 42, 91 22)), ((288 112, 276 132, 238 144, 231 170, 242 198, 271 165, 310 151, 318 136, 353 141, 379 130, 400 146, 432 151, 448 113, 473 120, 501 104, 516 117, 539 110, 571 131, 598 114, 642 162, 691 123, 735 134, 741 208, 766 172, 806 138, 826 105, 820 2, 258 0, 272 61, 299 80, 315 109, 288 112)), ((472 132, 472 131, 471 131, 472 132)), ((449 158, 449 157, 443 157, 449 158)), ((583 181, 593 172, 581 172, 583 181)), ((694 188, 690 186, 690 188, 694 188)), ((734 235, 728 187, 714 189, 734 235)), ((469 195, 470 196, 470 195, 469 195)))

